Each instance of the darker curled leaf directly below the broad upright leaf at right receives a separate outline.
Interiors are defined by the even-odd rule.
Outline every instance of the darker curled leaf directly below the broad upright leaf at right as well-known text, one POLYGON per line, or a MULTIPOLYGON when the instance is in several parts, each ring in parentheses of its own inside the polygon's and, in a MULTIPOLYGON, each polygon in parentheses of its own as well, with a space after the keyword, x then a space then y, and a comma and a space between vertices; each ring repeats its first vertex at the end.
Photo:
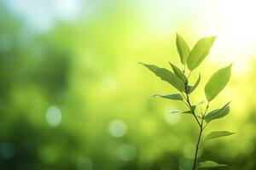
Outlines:
POLYGON ((224 117, 228 115, 230 112, 230 102, 224 105, 220 109, 216 109, 210 112, 207 112, 207 114, 204 116, 206 122, 211 122, 214 119, 218 119, 221 117, 224 117))

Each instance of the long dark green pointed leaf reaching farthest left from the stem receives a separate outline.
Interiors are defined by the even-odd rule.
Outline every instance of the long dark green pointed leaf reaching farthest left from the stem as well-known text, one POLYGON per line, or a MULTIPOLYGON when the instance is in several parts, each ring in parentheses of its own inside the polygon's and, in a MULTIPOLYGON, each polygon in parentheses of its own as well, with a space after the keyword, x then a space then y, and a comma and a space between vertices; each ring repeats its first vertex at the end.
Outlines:
POLYGON ((140 64, 146 66, 150 71, 154 72, 154 74, 157 77, 160 77, 163 81, 169 82, 174 88, 177 88, 178 91, 183 92, 185 90, 183 81, 175 74, 173 74, 172 71, 168 71, 156 65, 147 65, 143 63, 140 64))

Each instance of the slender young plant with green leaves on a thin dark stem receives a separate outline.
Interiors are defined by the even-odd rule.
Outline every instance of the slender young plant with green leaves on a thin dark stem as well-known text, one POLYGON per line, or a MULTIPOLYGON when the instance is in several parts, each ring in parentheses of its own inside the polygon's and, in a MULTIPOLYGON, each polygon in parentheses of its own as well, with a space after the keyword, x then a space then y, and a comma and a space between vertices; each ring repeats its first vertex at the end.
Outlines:
MULTIPOLYGON (((232 65, 228 65, 216 71, 212 75, 212 77, 210 77, 207 84, 205 85, 205 95, 207 99, 207 103, 205 105, 204 102, 195 105, 189 98, 190 94, 193 93, 195 91, 195 88, 198 87, 201 81, 201 75, 199 74, 194 85, 190 84, 189 77, 191 73, 195 71, 195 69, 199 65, 201 65, 201 62, 207 57, 207 54, 209 54, 215 38, 216 37, 202 38, 201 40, 196 42, 195 47, 190 51, 187 42, 185 42, 183 38, 177 34, 177 52, 180 56, 181 64, 183 65, 182 70, 176 65, 173 65, 173 63, 171 62, 169 62, 169 64, 172 67, 172 71, 169 71, 165 68, 160 68, 156 65, 147 65, 141 63, 142 65, 146 66, 150 71, 154 72, 157 77, 160 77, 161 80, 170 83, 179 92, 177 94, 156 94, 154 96, 172 100, 179 100, 183 102, 183 104, 188 107, 188 111, 171 111, 170 113, 183 113, 192 115, 196 123, 198 124, 199 136, 195 144, 195 158, 192 167, 193 170, 204 167, 225 167, 226 165, 218 164, 215 161, 197 162, 198 150, 200 150, 202 145, 209 140, 233 134, 228 131, 214 131, 208 133, 207 136, 202 140, 202 133, 209 125, 209 123, 213 120, 226 116, 230 112, 230 102, 228 102, 219 109, 215 109, 212 111, 208 110, 210 108, 210 103, 212 99, 215 99, 216 96, 224 89, 226 84, 229 82, 232 65), (200 109, 198 109, 199 105, 200 109)), ((183 169, 182 167, 179 168, 183 169)))

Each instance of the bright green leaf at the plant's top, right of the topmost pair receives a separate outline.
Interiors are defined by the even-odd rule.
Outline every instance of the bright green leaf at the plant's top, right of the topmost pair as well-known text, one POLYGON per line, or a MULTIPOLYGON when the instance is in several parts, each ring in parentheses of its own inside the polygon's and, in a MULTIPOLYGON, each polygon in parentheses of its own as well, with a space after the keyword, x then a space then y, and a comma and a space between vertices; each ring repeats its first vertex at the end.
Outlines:
POLYGON ((210 49, 216 37, 205 37, 196 42, 187 59, 187 65, 190 71, 193 71, 201 64, 203 59, 210 53, 210 49))

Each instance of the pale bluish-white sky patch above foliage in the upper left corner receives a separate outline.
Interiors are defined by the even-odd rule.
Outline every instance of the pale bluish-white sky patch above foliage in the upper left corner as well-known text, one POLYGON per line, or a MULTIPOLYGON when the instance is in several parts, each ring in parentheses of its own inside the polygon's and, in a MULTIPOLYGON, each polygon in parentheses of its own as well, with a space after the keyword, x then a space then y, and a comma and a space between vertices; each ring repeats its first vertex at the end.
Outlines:
MULTIPOLYGON (((49 31, 56 20, 75 20, 82 11, 82 0, 4 0, 7 7, 17 15, 22 15, 35 31, 49 31)), ((87 10, 87 8, 85 8, 87 10)), ((84 10, 85 10, 84 9, 84 10)))

